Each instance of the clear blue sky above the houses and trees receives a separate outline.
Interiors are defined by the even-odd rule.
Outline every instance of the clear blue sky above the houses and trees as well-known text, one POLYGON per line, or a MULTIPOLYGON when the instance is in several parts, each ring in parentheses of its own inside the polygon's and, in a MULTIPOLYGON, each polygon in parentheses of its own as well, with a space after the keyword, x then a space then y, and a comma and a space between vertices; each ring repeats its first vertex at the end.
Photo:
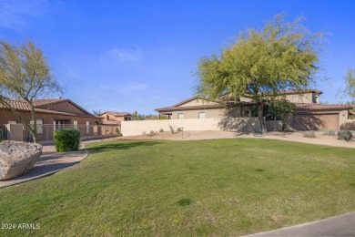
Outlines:
MULTIPOLYGON (((70 98, 89 111, 156 113, 193 96, 199 57, 240 30, 286 13, 324 31, 320 100, 337 103, 355 67, 355 1, 49 1, 0 0, 0 39, 40 46, 70 98)), ((54 95, 59 96, 59 95, 54 95)))

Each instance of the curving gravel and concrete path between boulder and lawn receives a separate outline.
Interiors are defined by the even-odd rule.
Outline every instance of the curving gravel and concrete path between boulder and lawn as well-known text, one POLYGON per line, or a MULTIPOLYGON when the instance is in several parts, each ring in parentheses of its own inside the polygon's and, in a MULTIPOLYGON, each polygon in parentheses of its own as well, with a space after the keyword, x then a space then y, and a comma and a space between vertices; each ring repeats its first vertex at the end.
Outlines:
POLYGON ((84 160, 88 154, 84 147, 77 151, 59 153, 56 152, 53 145, 44 145, 42 152, 42 156, 37 162, 35 162, 33 170, 11 180, 0 180, 0 189, 25 181, 46 177, 59 170, 77 164, 81 160, 84 160))

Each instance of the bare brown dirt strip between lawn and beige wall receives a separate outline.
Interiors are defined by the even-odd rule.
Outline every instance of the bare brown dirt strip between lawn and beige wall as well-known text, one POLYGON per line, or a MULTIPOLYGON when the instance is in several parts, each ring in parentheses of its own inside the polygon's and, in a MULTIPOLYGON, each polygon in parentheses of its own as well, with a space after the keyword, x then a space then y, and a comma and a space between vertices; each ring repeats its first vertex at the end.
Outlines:
MULTIPOLYGON (((196 139, 280 139, 304 142, 309 144, 319 144, 332 147, 344 147, 344 148, 355 148, 355 139, 350 141, 337 139, 337 136, 324 135, 321 131, 316 131, 316 138, 309 139, 303 137, 304 132, 269 132, 268 135, 260 136, 258 133, 243 133, 243 132, 232 132, 232 131, 184 131, 171 134, 171 132, 157 132, 157 135, 138 135, 138 136, 126 136, 119 137, 115 139, 172 139, 172 140, 196 140, 196 139)), ((101 140, 102 141, 102 140, 101 140)), ((92 141, 91 141, 92 142, 92 141)))

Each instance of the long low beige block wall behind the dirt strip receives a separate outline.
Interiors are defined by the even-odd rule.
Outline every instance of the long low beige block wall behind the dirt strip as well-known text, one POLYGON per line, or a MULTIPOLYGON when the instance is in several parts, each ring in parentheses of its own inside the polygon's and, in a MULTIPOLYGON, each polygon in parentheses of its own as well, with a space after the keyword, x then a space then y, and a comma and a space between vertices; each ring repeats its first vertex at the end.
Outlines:
MULTIPOLYGON (((174 129, 184 130, 230 130, 230 131, 259 131, 259 118, 187 118, 187 119, 166 119, 166 120, 139 120, 121 121, 121 132, 123 136, 137 136, 149 133, 151 130, 169 131, 169 126, 174 129)), ((267 121, 268 130, 280 130, 280 121, 267 121)))

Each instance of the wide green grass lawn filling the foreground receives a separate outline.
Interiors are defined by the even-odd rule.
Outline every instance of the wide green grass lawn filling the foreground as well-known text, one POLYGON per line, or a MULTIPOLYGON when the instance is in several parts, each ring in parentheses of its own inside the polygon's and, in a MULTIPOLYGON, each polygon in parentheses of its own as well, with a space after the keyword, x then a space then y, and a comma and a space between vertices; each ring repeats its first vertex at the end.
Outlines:
POLYGON ((0 236, 240 235, 355 211, 355 149, 269 139, 94 143, 0 189, 0 236))

